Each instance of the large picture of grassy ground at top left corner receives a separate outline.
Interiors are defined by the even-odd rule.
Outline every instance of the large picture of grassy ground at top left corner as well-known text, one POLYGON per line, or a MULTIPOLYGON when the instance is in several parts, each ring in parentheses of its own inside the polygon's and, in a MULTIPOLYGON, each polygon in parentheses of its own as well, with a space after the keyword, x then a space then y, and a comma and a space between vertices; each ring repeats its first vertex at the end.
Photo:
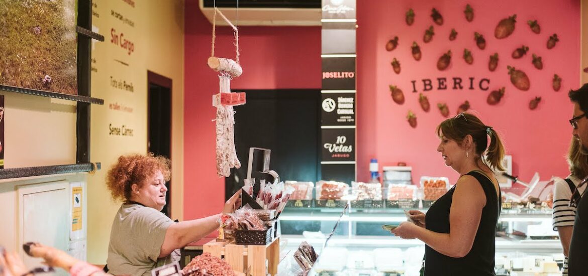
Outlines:
POLYGON ((0 85, 78 94, 76 0, 0 0, 0 85))

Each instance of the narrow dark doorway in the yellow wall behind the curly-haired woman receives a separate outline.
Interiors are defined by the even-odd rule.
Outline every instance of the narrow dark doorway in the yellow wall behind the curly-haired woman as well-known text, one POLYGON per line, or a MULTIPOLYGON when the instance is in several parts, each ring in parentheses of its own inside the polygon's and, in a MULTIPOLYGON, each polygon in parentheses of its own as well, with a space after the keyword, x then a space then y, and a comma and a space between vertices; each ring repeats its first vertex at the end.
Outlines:
MULTIPOLYGON (((151 71, 147 72, 147 150, 155 156, 172 158, 172 80, 151 71)), ((171 180, 166 183, 168 193, 162 213, 171 215, 171 180)))

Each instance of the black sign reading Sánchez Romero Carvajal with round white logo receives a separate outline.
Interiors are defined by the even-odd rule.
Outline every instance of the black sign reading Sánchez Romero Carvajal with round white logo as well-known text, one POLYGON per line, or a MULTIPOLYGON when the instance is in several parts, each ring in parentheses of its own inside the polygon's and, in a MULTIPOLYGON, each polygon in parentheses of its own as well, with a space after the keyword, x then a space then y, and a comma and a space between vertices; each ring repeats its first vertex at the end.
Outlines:
POLYGON ((355 126, 355 93, 323 93, 323 126, 355 126))

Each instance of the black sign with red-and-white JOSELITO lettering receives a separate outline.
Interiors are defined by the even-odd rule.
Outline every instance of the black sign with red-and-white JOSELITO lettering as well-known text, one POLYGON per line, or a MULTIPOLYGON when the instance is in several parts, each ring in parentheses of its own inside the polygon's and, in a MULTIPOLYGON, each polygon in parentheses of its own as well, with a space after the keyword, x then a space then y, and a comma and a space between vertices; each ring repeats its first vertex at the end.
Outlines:
POLYGON ((355 90, 355 58, 323 58, 323 90, 355 90))

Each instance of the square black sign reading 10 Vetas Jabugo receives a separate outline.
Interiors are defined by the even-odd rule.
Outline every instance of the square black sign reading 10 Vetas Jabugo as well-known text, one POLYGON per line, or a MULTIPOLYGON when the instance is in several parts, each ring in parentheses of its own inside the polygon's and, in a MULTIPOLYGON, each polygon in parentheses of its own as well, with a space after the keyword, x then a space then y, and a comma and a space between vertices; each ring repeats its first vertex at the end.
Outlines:
POLYGON ((355 129, 322 130, 323 161, 355 161, 355 129))

